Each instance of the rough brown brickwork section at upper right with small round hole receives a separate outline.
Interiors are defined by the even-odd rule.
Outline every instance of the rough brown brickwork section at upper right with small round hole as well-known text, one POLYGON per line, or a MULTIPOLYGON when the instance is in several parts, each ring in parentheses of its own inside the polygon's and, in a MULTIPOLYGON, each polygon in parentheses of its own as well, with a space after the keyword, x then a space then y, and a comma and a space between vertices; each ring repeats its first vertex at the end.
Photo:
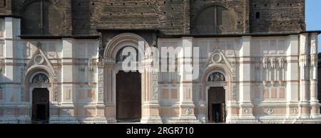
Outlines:
POLYGON ((305 0, 251 0, 252 33, 295 32, 305 30, 305 0), (260 12, 260 18, 255 14, 260 12))

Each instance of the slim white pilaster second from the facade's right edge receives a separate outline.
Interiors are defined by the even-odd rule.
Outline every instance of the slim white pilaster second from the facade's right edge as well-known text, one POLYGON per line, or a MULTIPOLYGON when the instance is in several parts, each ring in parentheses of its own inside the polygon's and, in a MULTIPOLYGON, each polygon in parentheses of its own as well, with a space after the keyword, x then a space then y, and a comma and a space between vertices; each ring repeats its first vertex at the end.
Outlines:
POLYGON ((299 119, 310 118, 310 102, 308 101, 309 85, 309 34, 300 34, 300 55, 299 55, 299 65, 300 65, 300 102, 299 102, 299 119))

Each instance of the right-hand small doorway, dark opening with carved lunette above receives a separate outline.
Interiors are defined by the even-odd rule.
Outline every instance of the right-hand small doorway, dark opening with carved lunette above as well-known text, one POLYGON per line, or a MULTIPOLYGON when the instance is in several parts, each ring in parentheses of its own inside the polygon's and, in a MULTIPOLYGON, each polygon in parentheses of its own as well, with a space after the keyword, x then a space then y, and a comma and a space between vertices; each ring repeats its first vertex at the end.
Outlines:
POLYGON ((208 122, 223 123, 226 121, 225 75, 214 72, 208 75, 208 122))

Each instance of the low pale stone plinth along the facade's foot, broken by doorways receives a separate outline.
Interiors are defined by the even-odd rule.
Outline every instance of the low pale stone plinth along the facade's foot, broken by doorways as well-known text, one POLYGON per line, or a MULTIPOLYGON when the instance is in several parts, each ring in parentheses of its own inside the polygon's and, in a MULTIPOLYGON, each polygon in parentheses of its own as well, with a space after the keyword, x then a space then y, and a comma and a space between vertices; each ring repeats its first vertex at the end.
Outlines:
MULTIPOLYGON (((1 117, 0 124, 31 124, 31 117, 1 117)), ((35 122, 34 122, 35 123, 35 122)), ((36 122, 37 123, 37 122, 36 122)), ((39 122, 41 123, 41 122, 39 122)), ((49 124, 113 124, 117 122, 106 117, 50 117, 49 124)), ((126 122, 132 123, 132 122, 126 122)), ((201 120, 182 120, 179 117, 142 118, 141 124, 205 124, 205 118, 201 120)), ((280 116, 257 117, 255 120, 239 118, 227 118, 227 124, 321 124, 321 118, 297 119, 295 117, 284 118, 280 116)))

